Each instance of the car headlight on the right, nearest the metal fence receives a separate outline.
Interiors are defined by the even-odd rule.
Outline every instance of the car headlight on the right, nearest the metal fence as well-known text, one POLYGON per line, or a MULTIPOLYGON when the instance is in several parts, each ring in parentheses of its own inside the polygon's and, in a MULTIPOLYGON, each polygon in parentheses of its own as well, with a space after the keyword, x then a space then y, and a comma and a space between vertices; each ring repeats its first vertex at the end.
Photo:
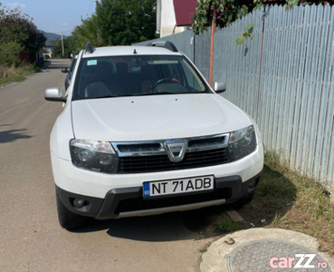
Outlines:
POLYGON ((256 149, 256 136, 253 126, 239 131, 233 131, 228 143, 230 160, 240 160, 251 154, 256 149))

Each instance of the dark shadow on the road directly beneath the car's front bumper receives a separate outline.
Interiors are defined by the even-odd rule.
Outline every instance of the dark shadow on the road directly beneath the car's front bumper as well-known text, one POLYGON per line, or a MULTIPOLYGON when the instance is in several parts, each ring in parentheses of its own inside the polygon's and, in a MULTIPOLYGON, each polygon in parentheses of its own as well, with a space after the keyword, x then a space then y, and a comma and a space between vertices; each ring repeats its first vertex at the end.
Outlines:
POLYGON ((223 219, 215 209, 213 207, 141 218, 92 220, 91 225, 73 232, 106 229, 110 237, 149 242, 212 238, 222 234, 217 226, 223 219))

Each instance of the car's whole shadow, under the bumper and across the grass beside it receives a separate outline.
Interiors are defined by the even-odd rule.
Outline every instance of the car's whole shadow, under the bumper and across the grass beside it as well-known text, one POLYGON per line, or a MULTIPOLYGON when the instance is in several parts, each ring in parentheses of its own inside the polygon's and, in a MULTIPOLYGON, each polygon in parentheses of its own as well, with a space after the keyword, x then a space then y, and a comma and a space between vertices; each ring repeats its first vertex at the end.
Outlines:
MULTIPOLYGON (((240 225, 243 228, 271 225, 289 213, 296 194, 291 180, 265 166, 253 201, 237 209, 244 219, 240 225)), ((222 213, 226 208, 235 208, 234 204, 143 218, 92 220, 91 225, 74 232, 106 230, 110 237, 154 242, 220 237, 228 232, 218 228, 225 220, 222 213)))

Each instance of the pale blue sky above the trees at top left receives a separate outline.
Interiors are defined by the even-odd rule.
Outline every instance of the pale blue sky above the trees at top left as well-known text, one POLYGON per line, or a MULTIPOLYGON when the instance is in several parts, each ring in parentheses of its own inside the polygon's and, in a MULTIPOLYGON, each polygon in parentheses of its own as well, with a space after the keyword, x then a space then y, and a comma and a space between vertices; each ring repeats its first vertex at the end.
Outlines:
POLYGON ((54 34, 70 35, 81 18, 91 17, 95 0, 19 0, 1 1, 8 9, 19 6, 23 14, 33 18, 39 30, 54 34))

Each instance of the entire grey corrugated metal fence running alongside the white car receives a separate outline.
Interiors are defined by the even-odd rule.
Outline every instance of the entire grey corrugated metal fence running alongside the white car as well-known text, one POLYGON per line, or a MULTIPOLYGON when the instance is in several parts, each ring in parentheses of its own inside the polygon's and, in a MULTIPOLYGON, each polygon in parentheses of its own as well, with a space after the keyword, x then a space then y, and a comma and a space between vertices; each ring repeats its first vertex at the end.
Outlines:
MULTIPOLYGON (((334 188, 334 6, 266 6, 215 32, 214 81, 257 121, 267 150, 334 188), (247 24, 253 40, 236 45, 247 24)), ((209 29, 164 37, 206 80, 209 29)), ((145 43, 142 43, 145 44, 145 43)))

